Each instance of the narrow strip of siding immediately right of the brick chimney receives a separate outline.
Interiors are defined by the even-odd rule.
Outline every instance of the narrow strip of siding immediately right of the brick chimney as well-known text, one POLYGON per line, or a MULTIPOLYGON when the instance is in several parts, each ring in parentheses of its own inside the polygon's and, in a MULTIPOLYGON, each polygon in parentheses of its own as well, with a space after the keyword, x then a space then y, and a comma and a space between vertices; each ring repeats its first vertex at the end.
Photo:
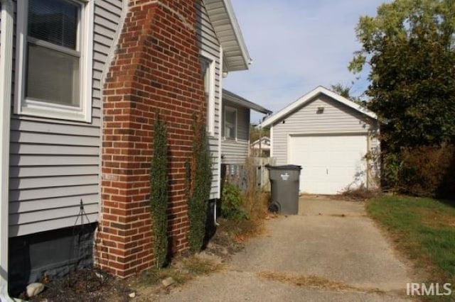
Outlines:
POLYGON ((196 33, 198 37, 198 44, 201 50, 210 53, 216 58, 215 62, 215 131, 214 135, 210 137, 210 152, 213 157, 213 178, 212 178, 212 191, 210 198, 220 198, 220 93, 221 93, 221 71, 220 71, 220 43, 213 30, 213 26, 207 15, 207 11, 202 1, 198 1, 197 8, 197 28, 196 33))

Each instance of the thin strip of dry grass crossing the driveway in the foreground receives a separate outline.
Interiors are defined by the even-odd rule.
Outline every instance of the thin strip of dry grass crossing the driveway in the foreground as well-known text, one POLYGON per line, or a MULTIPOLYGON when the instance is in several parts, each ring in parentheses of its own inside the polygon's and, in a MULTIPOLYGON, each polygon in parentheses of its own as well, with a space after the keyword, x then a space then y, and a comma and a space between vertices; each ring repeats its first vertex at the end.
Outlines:
POLYGON ((258 274, 260 279, 280 281, 295 286, 304 286, 314 289, 326 289, 331 291, 362 291, 362 292, 376 292, 382 293, 378 289, 360 289, 354 286, 349 286, 341 281, 333 281, 323 278, 321 276, 304 276, 299 274, 287 274, 282 272, 260 272, 258 274))

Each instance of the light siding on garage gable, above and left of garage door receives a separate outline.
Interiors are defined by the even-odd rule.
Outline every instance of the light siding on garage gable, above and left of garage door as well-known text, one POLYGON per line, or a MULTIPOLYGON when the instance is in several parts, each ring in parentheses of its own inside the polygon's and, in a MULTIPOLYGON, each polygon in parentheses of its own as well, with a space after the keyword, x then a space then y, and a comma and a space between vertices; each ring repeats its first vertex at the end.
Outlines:
POLYGON ((328 96, 319 95, 306 106, 284 117, 272 128, 272 157, 277 164, 287 164, 289 135, 371 133, 376 122, 328 96), (323 107, 323 113, 316 113, 323 107))

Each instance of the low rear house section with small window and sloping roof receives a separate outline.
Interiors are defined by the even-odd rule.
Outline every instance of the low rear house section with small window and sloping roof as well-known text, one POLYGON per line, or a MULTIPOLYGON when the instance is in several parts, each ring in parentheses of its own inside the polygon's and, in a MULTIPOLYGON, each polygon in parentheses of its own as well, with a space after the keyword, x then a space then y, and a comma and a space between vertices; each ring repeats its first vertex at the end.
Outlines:
POLYGON ((221 163, 245 164, 250 155, 250 111, 272 111, 223 89, 221 163))

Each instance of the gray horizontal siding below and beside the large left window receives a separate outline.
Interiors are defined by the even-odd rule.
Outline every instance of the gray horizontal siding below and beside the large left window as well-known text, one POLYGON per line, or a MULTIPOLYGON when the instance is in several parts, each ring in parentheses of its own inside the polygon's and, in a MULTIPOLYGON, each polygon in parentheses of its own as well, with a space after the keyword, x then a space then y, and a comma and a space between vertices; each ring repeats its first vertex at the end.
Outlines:
POLYGON ((95 1, 91 123, 11 116, 10 236, 80 223, 80 200, 83 220, 97 220, 102 77, 122 9, 121 0, 95 1))

